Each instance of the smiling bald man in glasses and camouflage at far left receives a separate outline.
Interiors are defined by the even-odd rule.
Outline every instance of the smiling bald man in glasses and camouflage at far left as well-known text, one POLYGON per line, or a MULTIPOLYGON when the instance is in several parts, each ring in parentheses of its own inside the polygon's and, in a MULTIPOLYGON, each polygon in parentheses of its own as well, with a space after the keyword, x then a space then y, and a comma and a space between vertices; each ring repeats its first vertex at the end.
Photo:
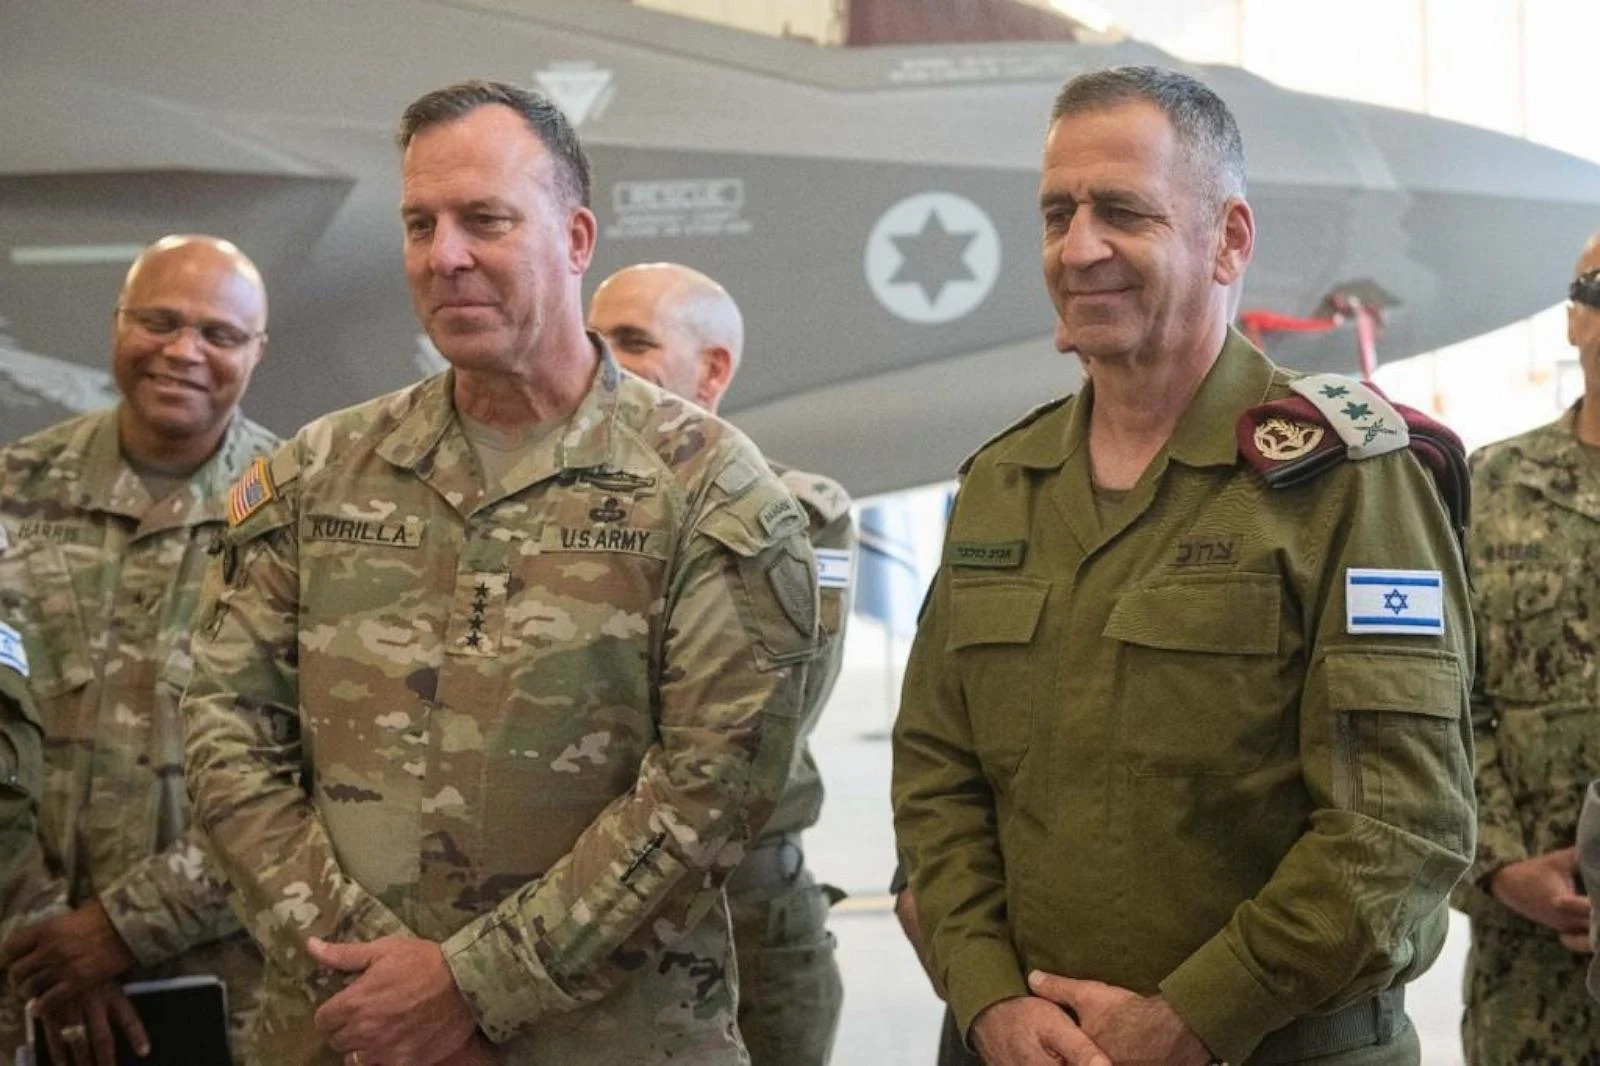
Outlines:
POLYGON ((178 696, 227 487, 274 443, 237 411, 266 328, 238 248, 158 240, 112 314, 122 403, 0 450, 0 621, 45 733, 40 850, 0 856, 29 866, 3 916, 5 1052, 38 997, 51 1039, 109 1066, 120 980, 214 973, 237 1029, 251 1010, 259 956, 189 826, 178 696))

